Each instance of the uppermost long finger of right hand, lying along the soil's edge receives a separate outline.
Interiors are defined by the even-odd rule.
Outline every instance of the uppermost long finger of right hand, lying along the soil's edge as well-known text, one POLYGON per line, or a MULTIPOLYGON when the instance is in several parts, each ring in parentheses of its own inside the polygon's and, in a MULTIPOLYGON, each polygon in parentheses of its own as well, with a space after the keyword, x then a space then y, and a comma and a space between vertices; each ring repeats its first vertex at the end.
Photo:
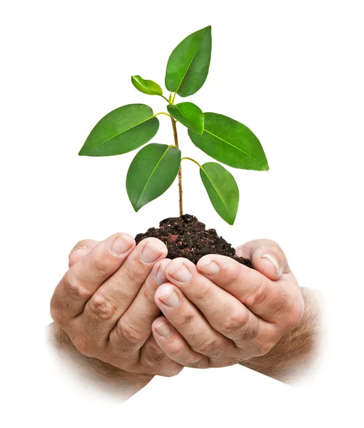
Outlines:
POLYGON ((232 258, 206 255, 198 260, 197 269, 263 320, 278 322, 294 305, 294 293, 285 290, 282 280, 271 281, 232 258))

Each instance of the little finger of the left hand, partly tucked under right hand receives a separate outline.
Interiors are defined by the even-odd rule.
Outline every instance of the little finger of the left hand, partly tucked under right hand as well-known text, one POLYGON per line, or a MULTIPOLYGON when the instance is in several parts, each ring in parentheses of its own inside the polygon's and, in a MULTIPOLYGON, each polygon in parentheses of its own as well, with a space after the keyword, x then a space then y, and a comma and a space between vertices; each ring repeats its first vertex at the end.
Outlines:
POLYGON ((151 332, 149 333, 145 345, 141 348, 140 365, 142 366, 142 372, 166 377, 176 376, 176 374, 183 370, 182 365, 171 360, 171 358, 161 350, 161 347, 159 347, 151 332))

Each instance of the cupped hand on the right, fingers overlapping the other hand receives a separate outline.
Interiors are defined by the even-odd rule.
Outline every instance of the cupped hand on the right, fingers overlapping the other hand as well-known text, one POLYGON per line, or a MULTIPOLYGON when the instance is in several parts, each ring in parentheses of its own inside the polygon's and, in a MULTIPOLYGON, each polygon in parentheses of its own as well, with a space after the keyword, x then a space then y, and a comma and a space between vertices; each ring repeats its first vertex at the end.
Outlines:
POLYGON ((156 290, 164 317, 152 331, 161 350, 188 367, 224 367, 266 355, 300 324, 304 300, 280 247, 256 240, 237 249, 255 270, 222 255, 194 265, 174 259, 156 290))

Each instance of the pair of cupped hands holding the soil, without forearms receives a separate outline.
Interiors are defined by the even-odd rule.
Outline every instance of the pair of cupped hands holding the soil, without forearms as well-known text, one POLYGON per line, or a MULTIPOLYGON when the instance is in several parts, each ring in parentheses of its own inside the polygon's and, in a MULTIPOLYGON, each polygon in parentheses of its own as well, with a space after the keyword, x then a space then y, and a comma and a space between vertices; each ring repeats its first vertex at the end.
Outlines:
POLYGON ((168 260, 156 238, 84 240, 69 255, 51 316, 81 354, 128 372, 173 376, 265 355, 299 325, 303 297, 273 241, 237 254, 255 270, 221 255, 168 260))

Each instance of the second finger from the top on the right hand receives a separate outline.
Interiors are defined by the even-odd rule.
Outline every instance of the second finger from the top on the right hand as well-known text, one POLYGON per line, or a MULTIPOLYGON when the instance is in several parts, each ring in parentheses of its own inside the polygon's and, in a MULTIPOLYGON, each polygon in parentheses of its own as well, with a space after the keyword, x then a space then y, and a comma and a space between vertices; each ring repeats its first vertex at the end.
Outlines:
MULTIPOLYGON (((201 275, 196 265, 189 260, 176 258, 166 267, 165 272, 168 280, 201 310, 208 324, 221 335, 241 344, 256 337, 261 331, 263 321, 236 297, 201 275)), ((163 313, 166 315, 166 312, 163 313)))

